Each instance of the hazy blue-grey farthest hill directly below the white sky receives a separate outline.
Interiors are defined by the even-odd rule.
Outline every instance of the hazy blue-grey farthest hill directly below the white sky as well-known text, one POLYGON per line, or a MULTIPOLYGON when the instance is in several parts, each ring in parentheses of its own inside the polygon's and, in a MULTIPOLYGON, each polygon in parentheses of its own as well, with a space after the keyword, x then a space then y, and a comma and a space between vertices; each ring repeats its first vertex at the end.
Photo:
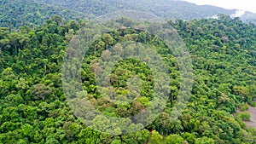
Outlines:
POLYGON ((86 14, 102 15, 117 10, 137 10, 155 14, 167 19, 200 19, 212 17, 215 14, 234 14, 236 10, 222 9, 214 6, 198 6, 175 0, 38 0, 78 10, 86 14))

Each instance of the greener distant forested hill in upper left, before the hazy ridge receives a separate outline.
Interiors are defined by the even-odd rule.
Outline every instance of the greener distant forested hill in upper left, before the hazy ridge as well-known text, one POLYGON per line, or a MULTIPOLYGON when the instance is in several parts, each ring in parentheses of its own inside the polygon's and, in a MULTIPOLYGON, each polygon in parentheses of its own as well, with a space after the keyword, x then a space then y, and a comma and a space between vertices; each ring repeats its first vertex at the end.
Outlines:
POLYGON ((0 1, 0 26, 41 25, 53 15, 73 20, 84 18, 84 14, 79 11, 49 6, 34 0, 0 1))

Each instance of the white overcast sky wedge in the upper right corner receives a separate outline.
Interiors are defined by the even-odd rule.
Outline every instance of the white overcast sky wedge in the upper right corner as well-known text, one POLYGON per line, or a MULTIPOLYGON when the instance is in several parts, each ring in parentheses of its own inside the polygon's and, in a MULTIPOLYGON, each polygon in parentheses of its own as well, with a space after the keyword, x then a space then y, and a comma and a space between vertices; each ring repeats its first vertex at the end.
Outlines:
POLYGON ((256 0, 183 0, 198 5, 208 4, 224 9, 242 9, 256 13, 256 0))

